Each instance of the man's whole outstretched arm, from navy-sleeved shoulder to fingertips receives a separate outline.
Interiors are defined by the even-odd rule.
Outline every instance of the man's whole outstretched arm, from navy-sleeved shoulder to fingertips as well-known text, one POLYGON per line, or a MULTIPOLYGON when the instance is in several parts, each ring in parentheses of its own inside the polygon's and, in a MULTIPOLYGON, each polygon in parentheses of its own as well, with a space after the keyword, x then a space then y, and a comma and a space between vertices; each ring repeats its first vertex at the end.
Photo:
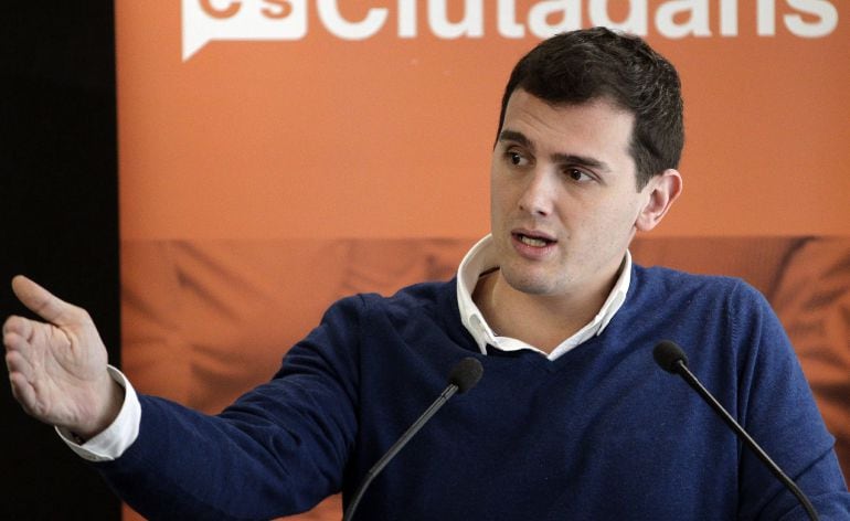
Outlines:
POLYGON ((144 515, 270 519, 305 511, 342 487, 357 432, 351 332, 360 299, 329 310, 272 382, 209 416, 163 398, 136 400, 129 385, 125 401, 88 313, 23 277, 13 285, 46 321, 12 317, 3 328, 15 396, 61 433, 91 437, 75 447, 91 454, 77 454, 144 515), (124 411, 136 404, 136 419, 121 413, 113 422, 125 402, 124 411), (128 426, 137 428, 129 437, 111 436, 128 426), (132 442, 113 450, 118 438, 132 442))

